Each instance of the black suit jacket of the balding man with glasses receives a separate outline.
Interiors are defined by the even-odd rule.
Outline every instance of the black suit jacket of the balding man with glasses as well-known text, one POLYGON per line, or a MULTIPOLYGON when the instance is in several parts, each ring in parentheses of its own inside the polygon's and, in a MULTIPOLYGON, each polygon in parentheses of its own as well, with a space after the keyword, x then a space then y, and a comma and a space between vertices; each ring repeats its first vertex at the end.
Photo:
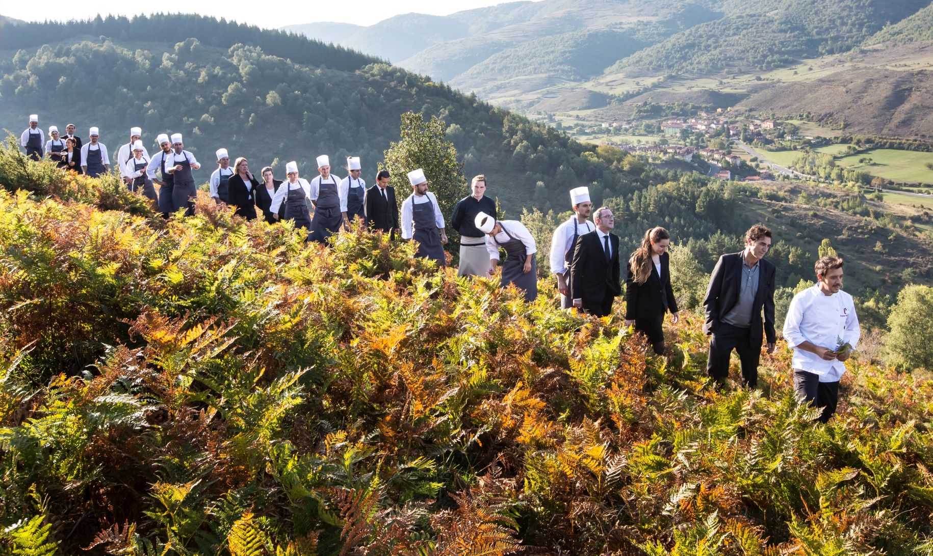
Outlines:
POLYGON ((606 295, 615 297, 622 292, 619 266, 619 236, 609 234, 612 257, 606 265, 606 251, 596 230, 583 234, 574 244, 574 258, 570 262, 570 297, 583 303, 600 303, 606 295))

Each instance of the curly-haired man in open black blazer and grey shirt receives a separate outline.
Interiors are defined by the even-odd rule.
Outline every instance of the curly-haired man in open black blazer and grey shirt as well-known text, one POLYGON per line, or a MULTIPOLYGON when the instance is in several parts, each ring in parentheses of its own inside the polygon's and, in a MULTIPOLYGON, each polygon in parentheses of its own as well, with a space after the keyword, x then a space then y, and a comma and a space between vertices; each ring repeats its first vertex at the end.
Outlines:
POLYGON ((761 224, 745 232, 745 250, 719 257, 706 289, 703 332, 712 334, 706 372, 719 386, 729 376, 732 349, 742 363, 742 386, 758 386, 761 337, 774 351, 774 265, 763 257, 771 230, 761 224), (764 319, 761 310, 764 309, 764 319))

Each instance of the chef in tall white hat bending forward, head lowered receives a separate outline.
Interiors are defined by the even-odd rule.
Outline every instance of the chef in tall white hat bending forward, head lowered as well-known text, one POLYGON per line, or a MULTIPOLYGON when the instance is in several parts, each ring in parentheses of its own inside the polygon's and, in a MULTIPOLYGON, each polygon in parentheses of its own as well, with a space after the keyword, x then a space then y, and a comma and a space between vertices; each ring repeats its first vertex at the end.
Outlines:
POLYGON ((499 264, 499 249, 506 250, 506 262, 502 264, 502 276, 499 283, 503 288, 508 284, 524 292, 525 301, 537 298, 537 263, 535 261, 535 238, 528 228, 517 220, 497 221, 489 214, 480 212, 474 225, 486 234, 486 251, 489 252, 489 275, 495 273, 499 264))

